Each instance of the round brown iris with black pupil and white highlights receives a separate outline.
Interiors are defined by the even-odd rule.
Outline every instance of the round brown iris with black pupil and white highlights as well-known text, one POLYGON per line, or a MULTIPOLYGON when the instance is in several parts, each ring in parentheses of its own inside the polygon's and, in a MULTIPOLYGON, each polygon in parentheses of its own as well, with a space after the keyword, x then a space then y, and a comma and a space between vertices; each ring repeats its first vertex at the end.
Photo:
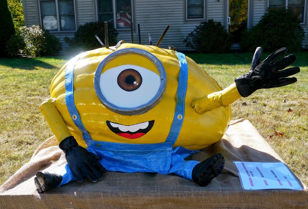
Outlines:
POLYGON ((135 91, 140 87, 142 77, 137 70, 126 69, 118 76, 118 85, 125 91, 135 91))

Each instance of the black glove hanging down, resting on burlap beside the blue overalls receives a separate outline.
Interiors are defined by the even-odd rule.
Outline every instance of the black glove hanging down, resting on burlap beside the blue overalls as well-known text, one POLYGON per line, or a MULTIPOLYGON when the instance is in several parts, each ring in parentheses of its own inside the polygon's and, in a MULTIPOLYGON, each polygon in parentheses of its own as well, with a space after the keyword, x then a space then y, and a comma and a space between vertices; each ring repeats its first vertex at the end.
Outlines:
POLYGON ((61 141, 59 148, 65 153, 67 164, 78 182, 83 181, 83 176, 88 177, 93 182, 103 178, 106 170, 98 162, 102 158, 79 146, 73 136, 61 141))

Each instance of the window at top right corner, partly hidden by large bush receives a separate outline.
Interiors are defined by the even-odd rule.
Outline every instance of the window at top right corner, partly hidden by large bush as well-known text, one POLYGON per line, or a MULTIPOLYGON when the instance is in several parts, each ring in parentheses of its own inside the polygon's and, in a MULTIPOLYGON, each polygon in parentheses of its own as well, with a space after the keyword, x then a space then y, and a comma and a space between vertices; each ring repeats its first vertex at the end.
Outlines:
MULTIPOLYGON (((277 10, 286 8, 293 10, 298 14, 298 17, 302 20, 302 23, 306 22, 305 1, 304 0, 269 0, 269 10, 277 10)), ((307 19, 307 18, 306 18, 307 19)))

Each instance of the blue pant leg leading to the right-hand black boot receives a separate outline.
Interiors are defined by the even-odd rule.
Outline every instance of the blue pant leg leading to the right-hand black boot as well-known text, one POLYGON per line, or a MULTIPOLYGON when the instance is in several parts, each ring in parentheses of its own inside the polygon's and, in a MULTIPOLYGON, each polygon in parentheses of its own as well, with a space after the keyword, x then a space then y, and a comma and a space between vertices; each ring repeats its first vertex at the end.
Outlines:
POLYGON ((184 158, 180 155, 172 155, 171 156, 171 169, 169 173, 175 173, 176 175, 180 175, 185 179, 192 179, 193 168, 200 163, 195 160, 184 160, 184 158))

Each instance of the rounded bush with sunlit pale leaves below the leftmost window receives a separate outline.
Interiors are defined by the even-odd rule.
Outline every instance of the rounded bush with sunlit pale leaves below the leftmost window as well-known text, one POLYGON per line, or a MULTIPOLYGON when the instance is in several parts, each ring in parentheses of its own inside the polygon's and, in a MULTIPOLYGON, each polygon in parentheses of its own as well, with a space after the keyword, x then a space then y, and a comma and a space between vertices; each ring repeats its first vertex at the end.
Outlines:
POLYGON ((62 45, 57 37, 39 26, 23 26, 19 28, 7 43, 6 51, 11 56, 23 53, 39 57, 58 54, 62 45))

